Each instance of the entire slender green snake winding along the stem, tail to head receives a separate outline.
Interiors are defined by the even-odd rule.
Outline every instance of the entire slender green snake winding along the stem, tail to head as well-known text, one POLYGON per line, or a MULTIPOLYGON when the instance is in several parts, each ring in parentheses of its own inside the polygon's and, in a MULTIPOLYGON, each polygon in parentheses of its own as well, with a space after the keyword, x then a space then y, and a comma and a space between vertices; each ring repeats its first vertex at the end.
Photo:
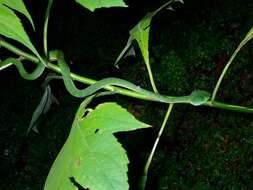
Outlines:
MULTIPOLYGON (((65 61, 64 54, 62 51, 60 50, 50 51, 49 62, 57 63, 57 65, 59 66, 61 70, 62 79, 67 91, 72 96, 77 97, 77 98, 88 97, 107 86, 117 86, 117 87, 121 87, 130 91, 139 93, 145 96, 146 99, 157 101, 157 102, 169 103, 169 104, 188 103, 194 106, 199 106, 199 105, 205 104, 210 99, 210 93, 203 90, 194 90, 190 95, 185 95, 185 96, 167 96, 167 95, 161 95, 158 93, 148 91, 129 81, 126 81, 120 78, 114 78, 114 77, 105 78, 105 79, 95 82, 94 84, 84 89, 78 89, 76 85, 74 84, 74 81, 71 77, 70 68, 65 61)), ((14 58, 8 58, 5 61, 0 62, 0 70, 5 67, 8 67, 10 64, 15 64, 20 75, 27 80, 34 80, 38 78, 45 69, 45 66, 41 63, 41 64, 38 64, 37 68, 35 68, 33 72, 28 73, 26 72, 21 61, 14 58)), ((115 92, 117 93, 117 90, 115 92)))

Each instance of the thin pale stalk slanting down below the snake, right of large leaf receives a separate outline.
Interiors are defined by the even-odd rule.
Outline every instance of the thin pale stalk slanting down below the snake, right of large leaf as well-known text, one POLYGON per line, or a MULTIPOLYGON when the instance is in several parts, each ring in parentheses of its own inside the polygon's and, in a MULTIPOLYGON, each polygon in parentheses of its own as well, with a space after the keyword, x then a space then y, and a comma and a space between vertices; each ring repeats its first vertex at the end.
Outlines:
POLYGON ((170 114, 171 114, 173 105, 174 105, 174 104, 170 104, 170 106, 169 106, 169 108, 168 108, 168 110, 167 110, 167 113, 166 113, 166 115, 165 115, 165 117, 164 117, 162 126, 161 126, 161 128, 160 128, 160 130, 159 130, 158 136, 157 136, 156 141, 155 141, 155 143, 154 143, 154 145, 153 145, 152 151, 151 151, 151 153, 150 153, 150 155, 149 155, 149 157, 148 157, 148 160, 147 160, 147 162, 146 162, 146 165, 145 165, 145 168, 144 168, 144 172, 143 172, 142 178, 141 178, 141 180, 140 180, 140 190, 145 190, 146 181, 147 181, 147 175, 148 175, 148 169, 149 169, 149 166, 150 166, 151 161, 152 161, 152 159, 153 159, 153 156, 154 156, 155 150, 156 150, 156 148, 157 148, 158 142, 159 142, 159 140, 160 140, 160 137, 161 137, 161 135, 162 135, 162 133, 163 133, 163 130, 164 130, 164 128, 165 128, 165 126, 166 126, 166 123, 167 123, 167 121, 168 121, 168 119, 169 119, 169 116, 170 116, 170 114))

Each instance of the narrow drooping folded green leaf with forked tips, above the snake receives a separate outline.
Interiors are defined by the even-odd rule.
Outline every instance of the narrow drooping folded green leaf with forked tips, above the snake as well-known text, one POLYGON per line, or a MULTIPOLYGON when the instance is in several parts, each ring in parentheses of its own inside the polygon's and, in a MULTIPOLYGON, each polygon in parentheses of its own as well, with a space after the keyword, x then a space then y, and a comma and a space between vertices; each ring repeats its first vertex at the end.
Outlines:
POLYGON ((115 61, 116 66, 118 66, 117 64, 120 61, 120 59, 123 58, 124 55, 127 53, 129 48, 131 47, 133 41, 136 40, 136 42, 141 50, 141 54, 144 58, 145 64, 149 67, 149 32, 150 32, 150 24, 151 24, 152 18, 159 11, 161 11, 163 8, 168 7, 170 4, 172 4, 174 2, 183 3, 183 1, 181 1, 181 0, 171 0, 167 3, 165 3, 164 5, 159 7, 157 10, 147 13, 146 16, 144 18, 142 18, 141 21, 134 28, 132 28, 130 30, 130 32, 129 32, 130 37, 127 41, 127 44, 123 48, 120 55, 118 56, 118 58, 115 61))

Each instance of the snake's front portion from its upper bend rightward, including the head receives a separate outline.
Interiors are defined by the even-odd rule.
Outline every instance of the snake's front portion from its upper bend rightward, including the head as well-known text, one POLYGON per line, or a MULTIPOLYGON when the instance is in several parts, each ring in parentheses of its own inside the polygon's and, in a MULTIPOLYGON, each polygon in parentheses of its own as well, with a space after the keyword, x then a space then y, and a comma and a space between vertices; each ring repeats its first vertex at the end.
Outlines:
POLYGON ((63 53, 59 50, 51 51, 49 54, 49 57, 51 60, 55 60, 58 62, 58 66, 61 69, 63 81, 64 81, 64 84, 65 84, 67 90, 70 92, 71 95, 78 97, 78 98, 90 96, 90 95, 94 94, 95 92, 97 92, 98 90, 100 90, 106 86, 109 86, 109 85, 123 87, 125 89, 132 90, 134 92, 145 95, 148 99, 151 99, 154 101, 159 101, 159 102, 164 102, 164 103, 190 103, 192 105, 197 106, 197 105, 201 105, 201 104, 207 102, 210 97, 210 94, 208 92, 201 91, 201 90, 193 91, 188 96, 179 96, 179 97, 163 96, 163 95, 145 90, 143 88, 140 88, 139 86, 137 86, 131 82, 128 82, 126 80, 122 80, 119 78, 102 79, 102 80, 97 81, 95 84, 93 84, 85 89, 80 90, 80 89, 76 88, 76 86, 70 76, 70 69, 65 62, 63 53))

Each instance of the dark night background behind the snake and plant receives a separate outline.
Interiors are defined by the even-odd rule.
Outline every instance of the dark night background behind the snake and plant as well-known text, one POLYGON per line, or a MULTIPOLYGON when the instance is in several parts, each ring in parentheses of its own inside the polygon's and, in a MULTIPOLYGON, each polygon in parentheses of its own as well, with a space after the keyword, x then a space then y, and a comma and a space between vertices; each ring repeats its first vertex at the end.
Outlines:
MULTIPOLYGON (((23 20, 42 52, 46 3, 29 1, 36 33, 23 20)), ((61 49, 71 70, 93 79, 120 77, 151 89, 140 56, 113 63, 126 44, 128 31, 166 1, 126 1, 129 8, 94 13, 74 1, 56 0, 49 23, 49 49, 61 49)), ((229 56, 253 26, 250 0, 186 0, 163 10, 152 22, 150 59, 161 93, 184 95, 194 89, 212 92, 229 56)), ((12 42, 14 43, 14 42, 12 42)), ((15 44, 15 43, 14 43, 15 44)), ((243 48, 224 79, 218 99, 251 106, 252 43, 243 48)), ((1 59, 13 54, 1 48, 1 59)), ((45 76, 43 76, 45 77, 45 76)), ((0 72, 0 189, 42 189, 65 142, 81 100, 71 97, 60 81, 52 83, 60 102, 39 122, 39 134, 24 134, 43 94, 43 77, 25 81, 16 68, 0 72)), ((129 183, 136 184, 161 125, 166 105, 120 95, 95 100, 117 101, 153 129, 117 134, 129 158, 129 183)), ((177 105, 155 154, 147 189, 253 189, 252 115, 207 107, 177 105)))

